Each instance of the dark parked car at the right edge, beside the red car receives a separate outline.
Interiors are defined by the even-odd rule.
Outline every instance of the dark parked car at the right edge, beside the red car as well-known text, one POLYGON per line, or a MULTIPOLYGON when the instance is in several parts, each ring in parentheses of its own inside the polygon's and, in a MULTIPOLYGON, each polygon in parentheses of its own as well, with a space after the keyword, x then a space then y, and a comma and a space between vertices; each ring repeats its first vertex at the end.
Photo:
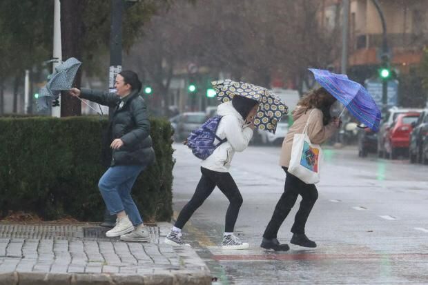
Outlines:
POLYGON ((428 110, 420 113, 418 121, 411 124, 409 160, 411 164, 422 162, 422 139, 428 135, 428 110))

